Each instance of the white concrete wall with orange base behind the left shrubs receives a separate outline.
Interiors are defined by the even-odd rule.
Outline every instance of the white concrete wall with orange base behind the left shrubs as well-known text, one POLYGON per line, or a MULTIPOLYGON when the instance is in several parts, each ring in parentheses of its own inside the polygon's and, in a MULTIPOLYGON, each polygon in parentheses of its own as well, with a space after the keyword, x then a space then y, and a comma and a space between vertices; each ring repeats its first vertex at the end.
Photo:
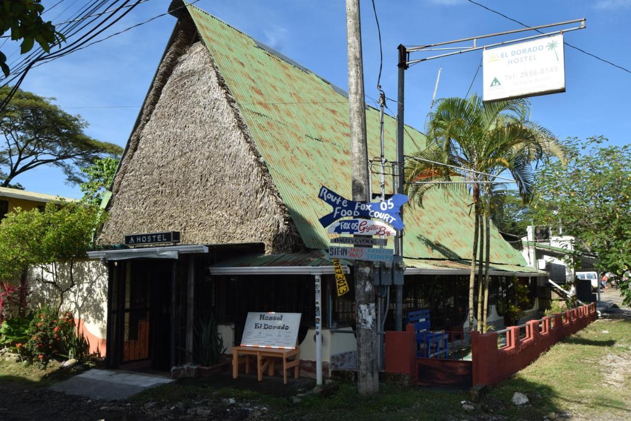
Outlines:
MULTIPOLYGON (((68 265, 58 264, 59 283, 69 284, 68 265)), ((74 266, 76 285, 64 296, 62 310, 71 310, 78 327, 90 342, 90 351, 105 355, 107 329, 107 267, 98 260, 81 260, 74 266)), ((51 275, 42 269, 32 268, 28 272, 31 305, 57 305, 57 291, 42 279, 51 275)))

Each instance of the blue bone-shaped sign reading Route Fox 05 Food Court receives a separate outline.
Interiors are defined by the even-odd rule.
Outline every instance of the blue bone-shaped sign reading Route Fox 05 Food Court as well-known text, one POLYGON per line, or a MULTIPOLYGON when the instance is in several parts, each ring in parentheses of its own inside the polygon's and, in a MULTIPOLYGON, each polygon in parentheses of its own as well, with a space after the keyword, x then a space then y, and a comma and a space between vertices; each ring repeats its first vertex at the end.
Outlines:
POLYGON ((325 228, 343 217, 377 218, 390 224, 394 229, 401 230, 405 227, 401 221, 401 206, 408 202, 406 195, 392 195, 383 202, 355 202, 322 186, 318 197, 333 207, 333 212, 319 219, 325 228))

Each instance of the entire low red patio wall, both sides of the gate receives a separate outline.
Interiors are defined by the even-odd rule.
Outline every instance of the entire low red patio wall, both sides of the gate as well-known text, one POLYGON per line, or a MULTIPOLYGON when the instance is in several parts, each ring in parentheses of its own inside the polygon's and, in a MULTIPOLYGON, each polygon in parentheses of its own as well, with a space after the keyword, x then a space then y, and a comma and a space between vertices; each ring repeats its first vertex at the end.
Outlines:
MULTIPOLYGON (((437 364, 444 364, 442 369, 445 373, 452 369, 462 371, 462 367, 451 367, 454 364, 472 363, 471 384, 491 386, 524 369, 552 345, 586 327, 597 317, 596 305, 591 303, 553 317, 527 322, 525 338, 519 338, 519 326, 511 326, 506 329, 506 345, 502 348, 498 348, 497 332, 473 332, 472 362, 431 359, 437 364)), ((411 325, 407 326, 405 332, 386 332, 386 372, 406 374, 410 377, 410 382, 425 384, 428 379, 419 378, 423 374, 423 364, 418 361, 425 359, 427 358, 415 356, 415 339, 411 325)))

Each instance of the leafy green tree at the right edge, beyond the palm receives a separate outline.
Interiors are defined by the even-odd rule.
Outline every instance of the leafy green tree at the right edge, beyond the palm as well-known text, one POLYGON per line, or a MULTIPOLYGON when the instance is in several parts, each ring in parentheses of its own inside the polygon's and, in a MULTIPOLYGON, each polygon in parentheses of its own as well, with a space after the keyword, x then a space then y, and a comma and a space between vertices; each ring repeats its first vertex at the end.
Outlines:
MULTIPOLYGON (((631 145, 606 142, 602 136, 565 141, 569 162, 540 169, 533 208, 539 223, 563 228, 577 250, 598 255, 602 271, 623 279, 631 267, 631 145)), ((631 304, 628 280, 620 290, 631 304)))

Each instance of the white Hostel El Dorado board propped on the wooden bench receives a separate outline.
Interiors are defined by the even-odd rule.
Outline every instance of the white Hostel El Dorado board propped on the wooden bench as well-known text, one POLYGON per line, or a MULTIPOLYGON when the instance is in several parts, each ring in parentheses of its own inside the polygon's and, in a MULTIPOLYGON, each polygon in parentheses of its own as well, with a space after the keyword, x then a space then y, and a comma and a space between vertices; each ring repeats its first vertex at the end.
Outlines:
POLYGON ((296 348, 300 313, 248 313, 241 346, 296 348))

